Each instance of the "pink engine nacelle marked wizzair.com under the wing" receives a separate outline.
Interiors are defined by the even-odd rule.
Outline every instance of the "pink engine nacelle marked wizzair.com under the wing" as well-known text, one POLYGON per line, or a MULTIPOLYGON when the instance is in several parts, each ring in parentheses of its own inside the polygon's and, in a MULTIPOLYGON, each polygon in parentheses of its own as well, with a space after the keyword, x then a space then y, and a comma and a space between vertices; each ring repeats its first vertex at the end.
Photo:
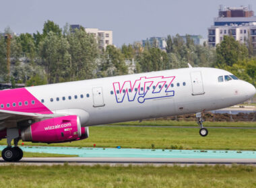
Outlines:
POLYGON ((42 120, 22 130, 23 141, 57 143, 88 138, 88 128, 81 128, 77 115, 42 120))

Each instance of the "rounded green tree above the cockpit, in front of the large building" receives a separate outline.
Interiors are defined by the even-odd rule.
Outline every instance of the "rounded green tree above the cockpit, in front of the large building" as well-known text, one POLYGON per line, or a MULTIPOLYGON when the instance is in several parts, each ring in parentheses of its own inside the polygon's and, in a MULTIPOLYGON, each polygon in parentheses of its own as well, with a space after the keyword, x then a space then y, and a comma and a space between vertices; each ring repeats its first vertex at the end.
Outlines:
POLYGON ((216 64, 215 66, 223 67, 224 65, 232 66, 238 60, 248 57, 248 50, 245 44, 240 44, 232 36, 224 36, 220 44, 216 46, 216 64))

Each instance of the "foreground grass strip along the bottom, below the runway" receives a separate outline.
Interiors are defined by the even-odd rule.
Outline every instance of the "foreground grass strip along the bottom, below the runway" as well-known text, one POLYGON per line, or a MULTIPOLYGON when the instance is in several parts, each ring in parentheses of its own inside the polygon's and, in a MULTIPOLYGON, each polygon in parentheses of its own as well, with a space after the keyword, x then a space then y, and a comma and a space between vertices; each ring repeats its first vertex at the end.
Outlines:
POLYGON ((0 187, 256 187, 256 167, 0 167, 0 187))

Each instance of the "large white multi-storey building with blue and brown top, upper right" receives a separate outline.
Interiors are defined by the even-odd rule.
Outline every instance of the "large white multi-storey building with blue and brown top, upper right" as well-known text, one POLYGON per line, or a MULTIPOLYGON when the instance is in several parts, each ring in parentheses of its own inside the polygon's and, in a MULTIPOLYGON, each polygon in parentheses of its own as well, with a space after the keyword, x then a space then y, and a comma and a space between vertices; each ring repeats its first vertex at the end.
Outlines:
POLYGON ((256 49, 256 16, 249 7, 222 7, 219 17, 214 18, 214 26, 208 28, 208 44, 216 46, 222 42, 225 35, 233 36, 235 40, 247 44, 249 38, 256 49))

